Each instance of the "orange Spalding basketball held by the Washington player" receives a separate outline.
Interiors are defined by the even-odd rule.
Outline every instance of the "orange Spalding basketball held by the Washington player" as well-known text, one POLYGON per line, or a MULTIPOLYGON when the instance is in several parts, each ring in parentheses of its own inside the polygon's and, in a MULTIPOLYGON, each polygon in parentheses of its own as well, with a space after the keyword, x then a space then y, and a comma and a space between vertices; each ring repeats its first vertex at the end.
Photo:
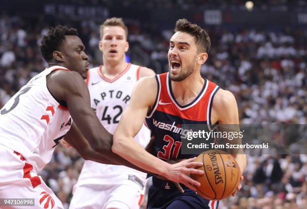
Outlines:
POLYGON ((198 169, 203 175, 193 174, 201 183, 196 192, 208 200, 224 199, 231 195, 240 183, 240 168, 234 157, 222 150, 209 150, 200 154, 195 161, 203 162, 198 169))

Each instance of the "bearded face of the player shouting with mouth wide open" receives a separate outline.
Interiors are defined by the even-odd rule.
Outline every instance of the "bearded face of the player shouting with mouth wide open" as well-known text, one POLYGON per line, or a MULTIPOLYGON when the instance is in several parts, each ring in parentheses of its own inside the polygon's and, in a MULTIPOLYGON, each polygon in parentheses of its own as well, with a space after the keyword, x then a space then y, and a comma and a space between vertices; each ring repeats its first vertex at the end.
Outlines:
POLYGON ((182 81, 194 72, 197 46, 188 33, 176 32, 170 40, 169 74, 173 81, 182 81))

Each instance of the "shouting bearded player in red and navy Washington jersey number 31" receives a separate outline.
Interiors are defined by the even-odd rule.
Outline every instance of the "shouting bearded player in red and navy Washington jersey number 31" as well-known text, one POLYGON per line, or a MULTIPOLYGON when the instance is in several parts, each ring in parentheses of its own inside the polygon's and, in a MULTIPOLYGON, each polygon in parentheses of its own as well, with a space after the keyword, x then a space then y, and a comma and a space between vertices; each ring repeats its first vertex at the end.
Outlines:
MULTIPOLYGON (((182 124, 239 124, 236 99, 231 92, 201 77, 200 68, 208 58, 211 45, 207 32, 186 19, 177 21, 174 32, 168 53, 169 72, 137 82, 115 131, 112 151, 140 168, 185 185, 185 192, 181 193, 172 182, 153 176, 147 208, 216 208, 218 202, 197 195, 186 177, 168 176, 165 161, 195 156, 180 152, 181 136, 186 131, 181 128, 182 124), (145 118, 155 136, 154 156, 132 140, 145 118)), ((242 174, 246 156, 238 154, 235 159, 242 174)), ((240 188, 241 185, 237 189, 240 188)))

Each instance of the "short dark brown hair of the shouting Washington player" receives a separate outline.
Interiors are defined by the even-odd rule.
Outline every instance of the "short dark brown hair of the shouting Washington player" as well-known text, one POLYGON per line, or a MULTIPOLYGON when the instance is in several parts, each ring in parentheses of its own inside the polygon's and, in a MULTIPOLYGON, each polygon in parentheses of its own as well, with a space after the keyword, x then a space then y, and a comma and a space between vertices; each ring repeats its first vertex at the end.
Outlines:
POLYGON ((208 53, 211 47, 210 37, 205 29, 196 24, 192 24, 187 19, 179 19, 176 22, 174 32, 185 32, 194 36, 195 43, 198 44, 198 51, 208 53))

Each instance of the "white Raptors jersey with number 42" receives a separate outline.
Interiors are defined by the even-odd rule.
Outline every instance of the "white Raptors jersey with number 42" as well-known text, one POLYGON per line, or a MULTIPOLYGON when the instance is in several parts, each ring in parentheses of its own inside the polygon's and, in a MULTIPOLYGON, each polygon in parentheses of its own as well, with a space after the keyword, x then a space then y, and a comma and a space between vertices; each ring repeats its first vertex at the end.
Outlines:
MULTIPOLYGON (((112 80, 104 77, 101 69, 102 66, 92 68, 87 74, 91 107, 105 129, 114 134, 122 112, 129 104, 140 66, 128 63, 126 69, 112 80)), ((134 139, 145 147, 150 140, 150 131, 143 125, 134 139)), ((121 179, 128 179, 129 174, 145 179, 144 173, 125 166, 85 161, 78 185, 120 183, 121 179)))

